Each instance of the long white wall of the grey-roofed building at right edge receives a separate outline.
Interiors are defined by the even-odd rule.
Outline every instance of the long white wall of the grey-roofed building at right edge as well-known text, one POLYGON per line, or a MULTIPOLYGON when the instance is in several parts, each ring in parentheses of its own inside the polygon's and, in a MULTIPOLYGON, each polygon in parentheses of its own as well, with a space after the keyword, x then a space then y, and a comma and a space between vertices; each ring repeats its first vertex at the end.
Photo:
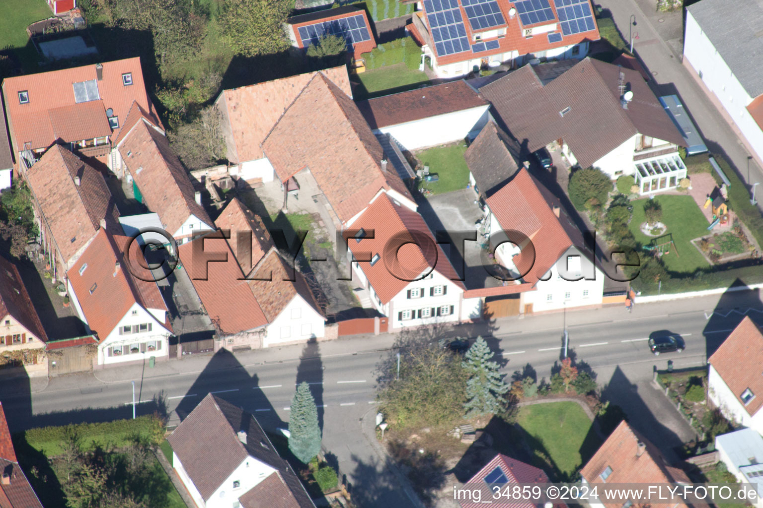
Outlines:
POLYGON ((747 110, 755 97, 750 97, 745 91, 689 11, 686 12, 684 58, 707 88, 718 97, 758 157, 763 158, 763 131, 747 110))

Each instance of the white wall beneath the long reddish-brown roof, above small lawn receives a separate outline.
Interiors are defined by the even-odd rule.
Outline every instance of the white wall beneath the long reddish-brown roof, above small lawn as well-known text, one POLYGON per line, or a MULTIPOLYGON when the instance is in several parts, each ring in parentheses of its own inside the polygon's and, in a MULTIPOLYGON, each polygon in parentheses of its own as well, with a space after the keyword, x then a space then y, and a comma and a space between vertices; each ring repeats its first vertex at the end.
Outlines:
MULTIPOLYGON (((472 130, 478 128, 478 123, 483 120, 483 117, 485 117, 484 121, 487 121, 485 113, 488 107, 488 104, 485 104, 485 106, 472 107, 468 110, 398 123, 375 129, 374 133, 391 134, 407 150, 444 145, 465 139, 472 130)), ((482 125, 485 123, 483 122, 482 125)))

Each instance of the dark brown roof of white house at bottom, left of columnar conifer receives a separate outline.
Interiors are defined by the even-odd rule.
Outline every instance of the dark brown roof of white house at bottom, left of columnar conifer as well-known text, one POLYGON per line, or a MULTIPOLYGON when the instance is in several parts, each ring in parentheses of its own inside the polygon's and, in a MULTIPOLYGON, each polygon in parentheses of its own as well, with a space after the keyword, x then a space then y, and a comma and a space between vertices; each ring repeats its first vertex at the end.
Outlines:
MULTIPOLYGON (((314 508, 299 478, 288 462, 278 456, 255 417, 230 402, 208 394, 167 440, 204 500, 214 494, 241 462, 252 457, 278 471, 291 496, 297 500, 295 506, 314 508), (237 436, 242 430, 246 433, 246 444, 237 436)), ((280 487, 275 492, 282 494, 280 487)), ((246 493, 241 498, 250 503, 244 505, 245 508, 280 506, 256 503, 246 493)), ((278 496, 274 496, 273 501, 278 501, 278 496)), ((291 508, 292 505, 285 506, 291 508)))

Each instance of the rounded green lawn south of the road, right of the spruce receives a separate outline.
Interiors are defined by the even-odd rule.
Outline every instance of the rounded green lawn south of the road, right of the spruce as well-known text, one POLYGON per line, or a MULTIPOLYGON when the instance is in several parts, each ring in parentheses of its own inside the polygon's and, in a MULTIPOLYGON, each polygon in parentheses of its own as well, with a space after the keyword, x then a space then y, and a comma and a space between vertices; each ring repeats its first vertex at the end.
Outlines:
POLYGON ((549 402, 520 408, 517 425, 536 457, 550 466, 556 480, 564 481, 588 461, 601 442, 583 408, 575 402, 549 402))

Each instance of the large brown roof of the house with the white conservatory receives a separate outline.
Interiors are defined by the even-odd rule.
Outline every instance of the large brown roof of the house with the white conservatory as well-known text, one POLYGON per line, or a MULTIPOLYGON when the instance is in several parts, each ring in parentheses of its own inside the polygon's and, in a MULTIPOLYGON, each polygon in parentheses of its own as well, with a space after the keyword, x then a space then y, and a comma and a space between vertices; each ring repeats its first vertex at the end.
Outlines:
MULTIPOLYGON (((683 136, 638 72, 585 58, 542 86, 532 65, 480 88, 495 116, 527 152, 555 139, 569 145, 587 168, 637 133, 685 145, 683 136), (620 104, 618 81, 633 91, 628 109, 620 104), (569 107, 564 117, 560 113, 569 107)), ((636 147, 634 146, 634 149, 636 147)))

